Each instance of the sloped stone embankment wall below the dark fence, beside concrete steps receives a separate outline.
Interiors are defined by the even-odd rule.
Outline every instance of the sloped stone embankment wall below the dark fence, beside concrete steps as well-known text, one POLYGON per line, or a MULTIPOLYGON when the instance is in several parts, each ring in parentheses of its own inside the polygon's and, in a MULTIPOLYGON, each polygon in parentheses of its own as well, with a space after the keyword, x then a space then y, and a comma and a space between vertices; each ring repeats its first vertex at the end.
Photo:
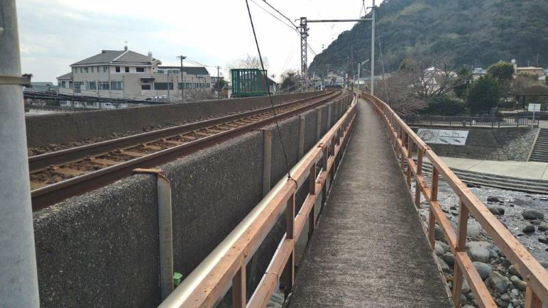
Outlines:
MULTIPOLYGON (((538 129, 532 127, 425 127, 469 131, 464 146, 429 144, 440 156, 525 162, 538 129)), ((414 128, 416 131, 416 128, 414 128)))

